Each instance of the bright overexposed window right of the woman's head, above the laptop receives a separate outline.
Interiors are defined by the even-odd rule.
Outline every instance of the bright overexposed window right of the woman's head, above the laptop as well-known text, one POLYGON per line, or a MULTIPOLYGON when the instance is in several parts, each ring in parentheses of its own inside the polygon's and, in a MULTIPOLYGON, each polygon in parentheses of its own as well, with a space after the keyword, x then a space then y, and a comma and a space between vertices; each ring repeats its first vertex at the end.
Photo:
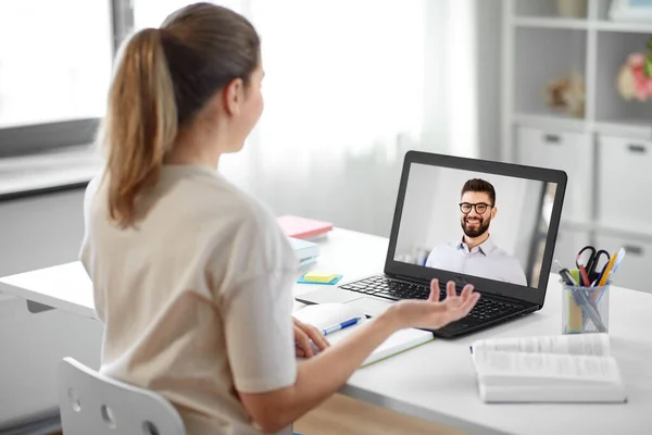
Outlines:
POLYGON ((265 67, 260 129, 274 144, 261 149, 265 162, 337 160, 418 136, 425 10, 423 0, 253 0, 265 67))

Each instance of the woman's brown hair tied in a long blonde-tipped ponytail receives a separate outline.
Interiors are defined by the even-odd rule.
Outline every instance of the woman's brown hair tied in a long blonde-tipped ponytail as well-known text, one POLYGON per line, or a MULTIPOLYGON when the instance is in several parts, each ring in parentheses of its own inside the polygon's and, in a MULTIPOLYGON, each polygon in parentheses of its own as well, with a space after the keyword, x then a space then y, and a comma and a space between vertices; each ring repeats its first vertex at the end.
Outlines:
POLYGON ((260 38, 241 15, 196 3, 161 28, 121 47, 99 140, 106 153, 110 217, 136 221, 139 195, 155 185, 180 126, 235 78, 247 86, 260 62, 260 38))

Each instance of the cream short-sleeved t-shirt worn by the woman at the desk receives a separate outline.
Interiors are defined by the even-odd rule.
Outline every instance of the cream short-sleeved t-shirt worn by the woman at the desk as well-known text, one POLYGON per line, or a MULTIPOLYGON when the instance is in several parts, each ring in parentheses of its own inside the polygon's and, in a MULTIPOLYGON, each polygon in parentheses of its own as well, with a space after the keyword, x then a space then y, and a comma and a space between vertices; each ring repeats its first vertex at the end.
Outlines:
POLYGON ((100 372, 165 396, 189 434, 259 434, 236 389, 297 376, 297 258, 274 216, 215 171, 165 165, 121 229, 100 177, 80 251, 105 326, 100 372))

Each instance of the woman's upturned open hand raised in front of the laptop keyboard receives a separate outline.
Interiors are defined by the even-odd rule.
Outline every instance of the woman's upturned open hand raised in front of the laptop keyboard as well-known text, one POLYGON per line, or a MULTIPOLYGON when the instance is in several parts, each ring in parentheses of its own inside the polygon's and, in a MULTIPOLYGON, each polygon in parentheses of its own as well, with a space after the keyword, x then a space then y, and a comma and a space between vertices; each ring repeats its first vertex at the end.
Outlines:
POLYGON ((428 300, 405 299, 394 303, 388 310, 393 311, 398 327, 423 327, 439 330, 456 320, 465 318, 480 298, 479 293, 473 291, 473 285, 467 284, 457 296, 455 283, 447 284, 447 297, 439 300, 439 281, 430 282, 428 300))

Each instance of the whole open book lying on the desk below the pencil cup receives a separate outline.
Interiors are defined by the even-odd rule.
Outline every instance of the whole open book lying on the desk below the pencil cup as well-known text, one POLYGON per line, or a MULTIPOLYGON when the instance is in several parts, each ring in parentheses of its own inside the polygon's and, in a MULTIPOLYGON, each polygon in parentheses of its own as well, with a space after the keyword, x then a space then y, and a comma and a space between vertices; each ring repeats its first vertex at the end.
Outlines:
POLYGON ((606 334, 487 339, 471 347, 486 402, 624 402, 606 334))

